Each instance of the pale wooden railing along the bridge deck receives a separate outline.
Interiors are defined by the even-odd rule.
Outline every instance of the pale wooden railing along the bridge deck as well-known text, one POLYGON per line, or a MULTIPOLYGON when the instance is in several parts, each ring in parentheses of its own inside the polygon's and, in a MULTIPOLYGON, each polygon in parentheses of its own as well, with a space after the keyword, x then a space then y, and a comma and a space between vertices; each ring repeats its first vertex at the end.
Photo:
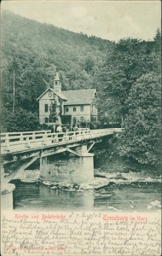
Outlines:
POLYGON ((119 133, 122 129, 90 130, 88 128, 78 131, 56 132, 51 131, 25 131, 8 132, 1 134, 1 154, 7 152, 24 151, 26 148, 42 148, 53 144, 66 144, 85 139, 104 137, 108 134, 119 133))

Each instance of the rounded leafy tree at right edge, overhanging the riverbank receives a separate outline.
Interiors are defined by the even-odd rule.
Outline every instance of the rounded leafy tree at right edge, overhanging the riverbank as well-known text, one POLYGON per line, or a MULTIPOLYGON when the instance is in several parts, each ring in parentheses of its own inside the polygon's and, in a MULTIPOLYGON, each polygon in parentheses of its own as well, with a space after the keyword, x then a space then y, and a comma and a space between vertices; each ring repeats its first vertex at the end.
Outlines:
POLYGON ((127 100, 129 111, 124 119, 124 134, 119 154, 139 164, 160 163, 160 77, 142 75, 132 85, 127 100))

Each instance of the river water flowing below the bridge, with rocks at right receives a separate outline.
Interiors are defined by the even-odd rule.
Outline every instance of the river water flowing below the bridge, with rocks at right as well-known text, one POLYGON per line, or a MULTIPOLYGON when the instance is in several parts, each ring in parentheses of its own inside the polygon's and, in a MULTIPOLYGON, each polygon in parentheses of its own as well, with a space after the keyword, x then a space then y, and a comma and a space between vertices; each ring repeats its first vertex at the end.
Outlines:
MULTIPOLYGON (((31 171, 32 172, 32 171, 31 171)), ((108 178, 100 189, 67 191, 43 183, 12 181, 14 209, 32 211, 157 212, 161 203, 161 178, 142 172, 96 172, 108 178)))

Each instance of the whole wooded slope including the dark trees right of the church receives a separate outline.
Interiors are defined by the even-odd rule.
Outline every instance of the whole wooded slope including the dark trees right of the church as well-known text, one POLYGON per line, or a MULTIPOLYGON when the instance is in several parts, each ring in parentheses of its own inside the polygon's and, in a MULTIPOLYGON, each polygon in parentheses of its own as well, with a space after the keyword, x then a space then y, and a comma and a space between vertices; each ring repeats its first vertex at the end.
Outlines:
POLYGON ((3 12, 1 29, 2 131, 42 129, 36 99, 52 86, 57 70, 62 90, 97 89, 101 125, 123 125, 109 156, 159 166, 159 30, 153 41, 123 38, 115 44, 9 12, 3 12))

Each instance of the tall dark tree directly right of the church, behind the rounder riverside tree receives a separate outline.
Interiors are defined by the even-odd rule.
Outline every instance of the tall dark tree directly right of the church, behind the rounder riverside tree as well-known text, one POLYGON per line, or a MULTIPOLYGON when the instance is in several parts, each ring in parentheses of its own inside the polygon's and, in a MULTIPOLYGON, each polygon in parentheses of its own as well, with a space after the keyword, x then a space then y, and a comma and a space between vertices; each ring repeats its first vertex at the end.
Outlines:
POLYGON ((157 71, 153 44, 138 39, 121 39, 107 52, 97 79, 99 116, 108 113, 124 119, 128 113, 127 99, 132 84, 143 74, 157 71), (149 50, 148 50, 149 49, 149 50))

